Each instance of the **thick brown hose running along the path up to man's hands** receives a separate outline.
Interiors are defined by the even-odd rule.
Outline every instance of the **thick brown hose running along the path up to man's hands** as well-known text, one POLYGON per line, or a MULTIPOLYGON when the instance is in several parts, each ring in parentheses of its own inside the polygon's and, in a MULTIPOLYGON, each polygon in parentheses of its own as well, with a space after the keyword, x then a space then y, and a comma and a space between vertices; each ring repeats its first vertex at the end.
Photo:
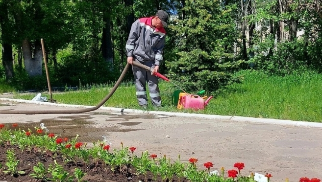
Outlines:
MULTIPOLYGON (((151 71, 150 67, 140 64, 138 62, 133 61, 133 65, 151 71)), ((87 112, 95 111, 95 110, 99 109, 113 95, 113 93, 116 91, 116 89, 120 86, 129 67, 130 67, 130 65, 126 64, 124 70, 122 71, 121 76, 119 77, 118 81, 115 83, 112 90, 105 96, 105 98, 103 100, 101 100, 99 102, 99 104, 97 106, 95 106, 93 108, 76 109, 76 110, 42 110, 42 111, 0 110, 0 114, 79 114, 79 113, 87 113, 87 112)))

